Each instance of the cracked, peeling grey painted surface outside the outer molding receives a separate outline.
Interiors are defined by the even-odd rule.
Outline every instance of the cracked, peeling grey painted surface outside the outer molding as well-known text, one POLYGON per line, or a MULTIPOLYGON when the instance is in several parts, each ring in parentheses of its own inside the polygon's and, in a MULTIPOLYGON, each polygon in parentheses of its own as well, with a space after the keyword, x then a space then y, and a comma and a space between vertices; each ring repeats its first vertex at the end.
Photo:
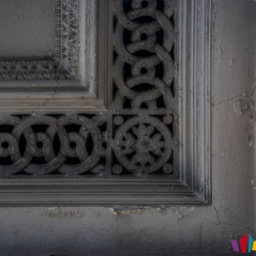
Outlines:
POLYGON ((255 234, 255 15, 213 2, 211 207, 0 208, 0 255, 233 255, 255 234))

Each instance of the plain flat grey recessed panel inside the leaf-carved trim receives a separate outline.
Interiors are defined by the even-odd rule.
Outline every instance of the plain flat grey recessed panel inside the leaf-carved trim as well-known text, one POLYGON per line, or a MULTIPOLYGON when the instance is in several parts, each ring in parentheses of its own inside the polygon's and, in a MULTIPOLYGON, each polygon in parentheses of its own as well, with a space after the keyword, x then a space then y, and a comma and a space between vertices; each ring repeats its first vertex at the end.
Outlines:
POLYGON ((56 51, 56 1, 0 1, 0 59, 50 56, 56 51))

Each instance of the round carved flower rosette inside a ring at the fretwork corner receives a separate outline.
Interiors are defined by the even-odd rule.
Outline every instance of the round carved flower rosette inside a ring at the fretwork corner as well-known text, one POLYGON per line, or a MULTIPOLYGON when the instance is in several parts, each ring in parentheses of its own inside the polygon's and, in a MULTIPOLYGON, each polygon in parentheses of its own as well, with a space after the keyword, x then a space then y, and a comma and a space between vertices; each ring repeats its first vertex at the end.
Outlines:
MULTIPOLYGON (((167 162, 175 147, 172 137, 170 129, 159 118, 129 118, 116 129, 115 156, 129 172, 154 173, 164 166, 164 173, 169 174, 172 173, 173 166, 167 162)), ((116 168, 113 167, 114 172, 116 168)))

